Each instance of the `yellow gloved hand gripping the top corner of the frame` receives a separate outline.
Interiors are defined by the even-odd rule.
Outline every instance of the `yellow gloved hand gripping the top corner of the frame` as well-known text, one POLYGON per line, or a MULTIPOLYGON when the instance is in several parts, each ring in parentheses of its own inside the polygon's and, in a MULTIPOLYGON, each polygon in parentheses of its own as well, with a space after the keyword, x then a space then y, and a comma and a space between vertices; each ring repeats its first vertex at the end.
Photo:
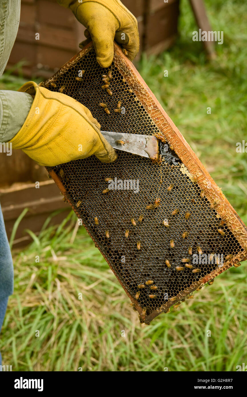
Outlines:
POLYGON ((113 60, 113 40, 122 45, 132 61, 139 51, 137 20, 119 0, 57 0, 70 8, 91 37, 100 66, 113 60), (122 34, 123 33, 123 34, 122 34))

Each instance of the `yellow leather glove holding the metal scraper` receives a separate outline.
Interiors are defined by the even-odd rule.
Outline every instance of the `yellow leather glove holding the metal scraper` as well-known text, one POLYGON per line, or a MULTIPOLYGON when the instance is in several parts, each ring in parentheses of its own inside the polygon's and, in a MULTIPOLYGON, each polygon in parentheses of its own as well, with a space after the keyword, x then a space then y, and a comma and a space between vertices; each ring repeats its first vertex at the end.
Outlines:
POLYGON ((56 166, 92 154, 101 162, 116 160, 114 148, 85 106, 33 81, 18 91, 35 97, 23 126, 10 141, 13 149, 22 149, 41 166, 56 166))

